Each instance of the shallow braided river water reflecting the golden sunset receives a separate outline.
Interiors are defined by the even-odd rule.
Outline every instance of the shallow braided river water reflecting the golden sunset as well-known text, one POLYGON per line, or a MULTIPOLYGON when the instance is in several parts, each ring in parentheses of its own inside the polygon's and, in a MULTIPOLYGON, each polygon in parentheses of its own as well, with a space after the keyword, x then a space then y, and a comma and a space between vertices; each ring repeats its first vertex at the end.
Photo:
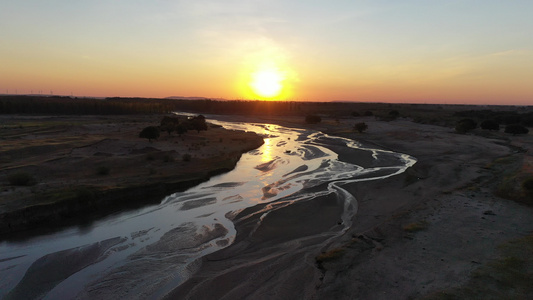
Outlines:
MULTIPOLYGON (((114 214, 90 228, 2 242, 0 298, 158 299, 190 277, 199 258, 234 241, 232 219, 246 208, 272 203, 279 209, 334 194, 342 205, 341 229, 327 234, 338 236, 357 213, 357 201, 344 184, 390 177, 416 162, 311 130, 212 123, 254 131, 265 143, 244 154, 231 172, 169 195, 159 205, 114 214), (340 161, 330 150, 339 147, 360 163, 340 161)), ((265 216, 273 207, 254 213, 265 216)))

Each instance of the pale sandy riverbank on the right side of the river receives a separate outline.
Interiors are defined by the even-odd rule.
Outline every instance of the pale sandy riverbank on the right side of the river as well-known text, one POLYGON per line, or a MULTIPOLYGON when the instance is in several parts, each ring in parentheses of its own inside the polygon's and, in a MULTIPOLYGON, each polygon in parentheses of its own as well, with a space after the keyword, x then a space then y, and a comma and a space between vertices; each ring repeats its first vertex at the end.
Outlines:
MULTIPOLYGON (((502 287, 495 278, 505 276, 504 270, 491 269, 491 274, 482 270, 506 259, 530 262, 531 245, 513 257, 502 256, 499 247, 531 235, 533 210, 498 195, 505 195, 502 187, 509 178, 519 185, 521 178, 531 175, 532 136, 461 135, 453 128, 402 119, 358 121, 368 125, 365 133, 353 131, 353 120, 325 120, 316 125, 305 125, 297 118, 255 120, 304 126, 360 141, 364 147, 417 158, 414 167, 401 175, 343 186, 359 204, 348 232, 334 240, 313 235, 339 222, 335 202, 328 197, 261 216, 262 229, 254 227, 257 220, 237 216, 235 243, 205 257, 200 270, 168 298, 527 295, 520 286, 523 280, 502 287), (472 284, 473 280, 478 282, 472 284), (461 290, 465 285, 468 292, 461 290)), ((335 149, 339 150, 340 159, 352 159, 350 153, 335 149)), ((528 272, 513 274, 524 279, 530 276, 528 272)))

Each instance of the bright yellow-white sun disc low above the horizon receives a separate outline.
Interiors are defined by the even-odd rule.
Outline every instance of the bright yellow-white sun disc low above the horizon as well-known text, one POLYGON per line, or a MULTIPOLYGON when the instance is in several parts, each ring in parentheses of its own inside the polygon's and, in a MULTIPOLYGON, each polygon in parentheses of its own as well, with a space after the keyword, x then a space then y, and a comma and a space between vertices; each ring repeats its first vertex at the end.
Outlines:
POLYGON ((262 98, 273 98, 283 90, 283 74, 275 69, 258 70, 251 74, 250 87, 262 98))

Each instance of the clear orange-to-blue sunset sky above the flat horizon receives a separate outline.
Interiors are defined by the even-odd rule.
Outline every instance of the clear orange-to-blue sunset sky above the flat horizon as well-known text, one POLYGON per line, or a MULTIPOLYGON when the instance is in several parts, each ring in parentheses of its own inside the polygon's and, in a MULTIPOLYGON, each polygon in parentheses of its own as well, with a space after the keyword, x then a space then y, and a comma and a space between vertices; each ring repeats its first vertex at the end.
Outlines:
POLYGON ((533 105, 531 0, 2 0, 0 94, 533 105))

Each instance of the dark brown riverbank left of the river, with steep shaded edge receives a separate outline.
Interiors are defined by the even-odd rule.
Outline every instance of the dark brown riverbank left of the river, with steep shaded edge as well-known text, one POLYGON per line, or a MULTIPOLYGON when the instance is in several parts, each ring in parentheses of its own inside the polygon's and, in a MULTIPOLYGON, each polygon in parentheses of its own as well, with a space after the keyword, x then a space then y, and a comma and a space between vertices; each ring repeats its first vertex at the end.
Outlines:
POLYGON ((233 169, 263 143, 217 126, 139 138, 161 115, 0 117, 0 234, 13 238, 154 203, 233 169))

